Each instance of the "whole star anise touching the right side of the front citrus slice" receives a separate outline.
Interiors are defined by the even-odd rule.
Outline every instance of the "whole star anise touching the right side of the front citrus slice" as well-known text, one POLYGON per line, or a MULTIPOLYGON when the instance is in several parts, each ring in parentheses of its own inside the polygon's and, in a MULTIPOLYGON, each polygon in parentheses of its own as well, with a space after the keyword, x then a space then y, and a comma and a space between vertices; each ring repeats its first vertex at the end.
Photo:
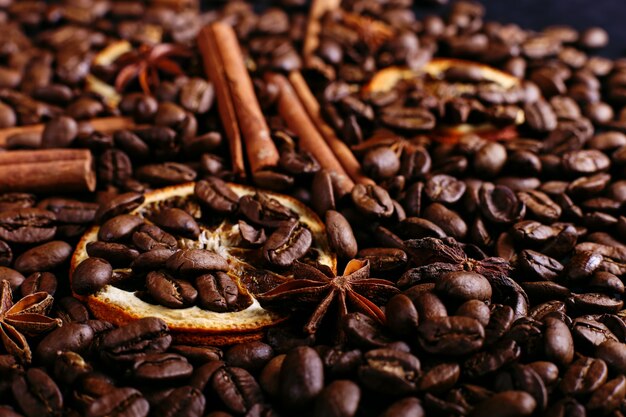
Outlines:
POLYGON ((350 310, 366 314, 381 323, 385 321, 385 313, 378 305, 384 304, 399 290, 391 281, 369 278, 369 261, 351 260, 343 275, 334 275, 329 269, 324 269, 296 262, 293 280, 259 295, 257 299, 268 309, 312 310, 304 326, 304 331, 310 334, 317 332, 333 305, 340 320, 350 310))

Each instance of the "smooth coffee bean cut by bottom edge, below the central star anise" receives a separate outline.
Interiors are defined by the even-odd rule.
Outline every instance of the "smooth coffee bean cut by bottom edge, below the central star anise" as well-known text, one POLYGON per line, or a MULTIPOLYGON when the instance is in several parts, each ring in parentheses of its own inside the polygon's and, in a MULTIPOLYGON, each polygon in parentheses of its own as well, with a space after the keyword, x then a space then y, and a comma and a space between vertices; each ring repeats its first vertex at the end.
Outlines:
POLYGON ((352 417, 356 414, 361 389, 347 380, 337 380, 328 384, 315 400, 315 417, 352 417))

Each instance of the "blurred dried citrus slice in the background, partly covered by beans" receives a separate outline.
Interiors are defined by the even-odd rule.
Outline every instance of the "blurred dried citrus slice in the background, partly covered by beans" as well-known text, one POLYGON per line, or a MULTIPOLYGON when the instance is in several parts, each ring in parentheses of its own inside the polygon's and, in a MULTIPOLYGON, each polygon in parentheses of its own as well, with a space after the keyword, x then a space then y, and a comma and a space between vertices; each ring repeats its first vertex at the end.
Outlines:
MULTIPOLYGON (((488 65, 459 59, 435 58, 417 71, 405 67, 382 69, 363 86, 362 92, 365 94, 386 93, 401 81, 415 79, 423 79, 423 88, 443 99, 474 93, 478 84, 484 91, 489 92, 491 89, 494 93, 508 93, 520 89, 520 81, 517 77, 488 65), (443 82, 453 72, 456 72, 457 79, 443 82)), ((475 133, 486 139, 509 139, 516 137, 515 126, 522 123, 524 123, 524 112, 520 110, 516 114, 514 123, 509 126, 497 127, 489 123, 443 125, 437 126, 433 136, 442 142, 455 142, 459 137, 468 133, 475 133)))

